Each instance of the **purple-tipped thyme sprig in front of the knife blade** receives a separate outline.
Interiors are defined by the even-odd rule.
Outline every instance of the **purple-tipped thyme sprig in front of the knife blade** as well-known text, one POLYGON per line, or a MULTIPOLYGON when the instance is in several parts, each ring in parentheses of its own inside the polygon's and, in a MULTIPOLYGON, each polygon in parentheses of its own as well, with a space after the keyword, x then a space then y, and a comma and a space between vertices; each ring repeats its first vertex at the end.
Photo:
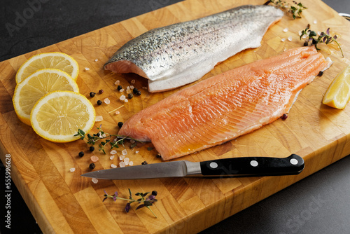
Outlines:
POLYGON ((147 207, 152 214, 155 216, 155 218, 157 218, 157 215, 155 215, 155 213, 153 212, 153 210, 151 209, 151 206, 153 205, 154 202, 157 201, 157 199, 155 199, 155 196, 157 195, 156 191, 153 191, 150 195, 149 192, 147 193, 135 193, 135 195, 139 196, 140 198, 135 200, 134 198, 132 198, 132 192, 130 191, 129 188, 129 198, 120 198, 118 197, 118 192, 114 193, 114 195, 109 195, 106 191, 104 191, 104 200, 103 202, 107 199, 107 198, 113 198, 113 200, 116 202, 116 200, 126 200, 127 201, 127 205, 125 205, 125 212, 129 212, 130 208, 131 208, 131 204, 133 202, 138 202, 139 204, 142 203, 141 205, 139 205, 137 209, 141 209, 142 207, 147 207), (148 198, 146 198, 146 196, 148 195, 148 198))

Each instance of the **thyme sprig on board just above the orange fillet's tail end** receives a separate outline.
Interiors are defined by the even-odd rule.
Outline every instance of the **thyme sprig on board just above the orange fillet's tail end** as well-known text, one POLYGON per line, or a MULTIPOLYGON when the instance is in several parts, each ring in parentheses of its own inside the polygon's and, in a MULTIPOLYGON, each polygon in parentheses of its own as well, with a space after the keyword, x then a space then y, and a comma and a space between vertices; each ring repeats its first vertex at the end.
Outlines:
POLYGON ((304 42, 304 46, 308 46, 309 41, 311 41, 311 45, 315 45, 317 50, 320 50, 319 48, 317 48, 318 43, 325 43, 326 45, 328 45, 329 43, 332 43, 333 41, 335 41, 335 43, 337 43, 337 46, 340 49, 340 52, 342 53, 342 57, 344 57, 343 50, 340 47, 339 43, 337 42, 338 36, 337 35, 330 36, 330 28, 328 28, 325 32, 321 32, 317 36, 316 32, 310 29, 310 25, 307 25, 307 27, 304 30, 302 30, 300 34, 300 40, 302 39, 302 37, 304 37, 304 35, 306 35, 307 37, 306 41, 304 42))

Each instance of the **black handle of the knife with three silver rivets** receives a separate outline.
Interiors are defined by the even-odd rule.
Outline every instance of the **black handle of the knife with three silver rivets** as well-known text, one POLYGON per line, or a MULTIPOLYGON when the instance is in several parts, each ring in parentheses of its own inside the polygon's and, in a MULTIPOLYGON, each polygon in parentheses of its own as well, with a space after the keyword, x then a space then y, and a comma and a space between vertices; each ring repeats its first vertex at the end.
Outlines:
POLYGON ((223 158, 201 162, 200 167, 205 176, 261 177, 299 174, 304 169, 304 160, 296 154, 287 158, 223 158))

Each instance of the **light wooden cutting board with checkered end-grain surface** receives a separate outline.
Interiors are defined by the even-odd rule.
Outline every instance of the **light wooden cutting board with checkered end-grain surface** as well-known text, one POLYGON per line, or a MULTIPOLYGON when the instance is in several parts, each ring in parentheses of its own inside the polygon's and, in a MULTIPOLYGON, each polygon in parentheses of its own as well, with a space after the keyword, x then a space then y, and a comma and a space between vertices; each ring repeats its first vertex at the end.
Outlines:
MULTIPOLYGON (((283 158, 297 153, 305 161, 305 169, 299 175, 228 179, 100 180, 94 184, 91 179, 80 177, 80 174, 90 171, 90 156, 99 157, 95 170, 108 169, 111 163, 118 165, 118 157, 111 160, 109 152, 107 155, 97 150, 90 153, 87 145, 80 140, 69 144, 48 142, 18 120, 11 101, 18 68, 31 55, 61 51, 74 57, 80 66, 77 81, 80 93, 88 96, 91 91, 98 92, 103 89, 102 95, 89 97, 92 103, 106 97, 111 100, 109 105, 95 107, 97 116, 104 118, 101 122, 103 129, 116 134, 118 122, 126 121, 134 113, 176 90, 148 93, 142 89, 147 85, 144 78, 134 74, 120 75, 104 71, 103 64, 109 57, 124 43, 149 29, 211 15, 244 5, 245 2, 183 1, 0 63, 0 157, 5 162, 6 156, 10 155, 12 179, 44 233, 197 233, 350 153, 350 106, 337 110, 321 104, 323 94, 332 79, 346 64, 350 64, 350 24, 318 0, 302 1, 309 7, 302 13, 302 19, 293 20, 286 14, 281 22, 268 30, 260 48, 244 50, 219 64, 202 79, 277 55, 288 48, 302 46, 303 41, 298 39, 298 32, 308 23, 316 32, 330 27, 332 33, 338 34, 345 57, 341 57, 336 46, 330 49, 320 46, 323 48, 321 53, 325 57, 330 56, 335 62, 323 76, 317 77, 302 90, 286 121, 279 119, 221 146, 180 158, 191 161, 241 156, 283 158), (288 32, 283 32, 286 28, 288 32), (288 41, 288 37, 291 41, 288 41), (287 40, 281 41, 283 38, 287 40), (135 80, 133 85, 142 91, 142 95, 134 97, 130 102, 121 102, 118 99, 120 92, 114 84, 116 80, 125 88, 135 80), (120 106, 120 114, 116 115, 114 110, 120 106), (78 157, 79 151, 85 152, 83 158, 78 157), (72 167, 76 168, 74 172, 69 170, 72 167), (158 191, 158 202, 152 207, 157 219, 148 209, 135 211, 134 205, 126 214, 123 212, 125 202, 120 200, 102 202, 104 190, 110 194, 118 191, 121 197, 127 198, 128 188, 133 193, 158 191)), ((264 3, 258 0, 251 2, 264 3)), ((96 123, 96 127, 101 123, 96 123)), ((97 132, 97 129, 94 128, 92 132, 97 132)), ((127 157, 134 165, 140 165, 144 160, 148 163, 160 163, 160 159, 156 158, 157 152, 148 151, 149 146, 152 146, 151 143, 130 149, 130 143, 127 142, 127 157)), ((122 150, 123 148, 118 149, 118 155, 122 150)))

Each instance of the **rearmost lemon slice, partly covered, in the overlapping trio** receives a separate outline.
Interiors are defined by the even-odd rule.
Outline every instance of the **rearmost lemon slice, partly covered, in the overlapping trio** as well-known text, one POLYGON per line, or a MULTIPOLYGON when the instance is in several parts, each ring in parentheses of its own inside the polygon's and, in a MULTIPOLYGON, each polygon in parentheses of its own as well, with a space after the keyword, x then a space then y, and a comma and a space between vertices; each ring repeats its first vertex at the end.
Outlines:
POLYGON ((22 64, 16 74, 16 83, 20 83, 25 78, 33 74, 35 71, 44 68, 53 68, 65 71, 73 78, 74 81, 78 78, 78 62, 73 57, 65 53, 41 53, 29 57, 29 59, 22 64))

